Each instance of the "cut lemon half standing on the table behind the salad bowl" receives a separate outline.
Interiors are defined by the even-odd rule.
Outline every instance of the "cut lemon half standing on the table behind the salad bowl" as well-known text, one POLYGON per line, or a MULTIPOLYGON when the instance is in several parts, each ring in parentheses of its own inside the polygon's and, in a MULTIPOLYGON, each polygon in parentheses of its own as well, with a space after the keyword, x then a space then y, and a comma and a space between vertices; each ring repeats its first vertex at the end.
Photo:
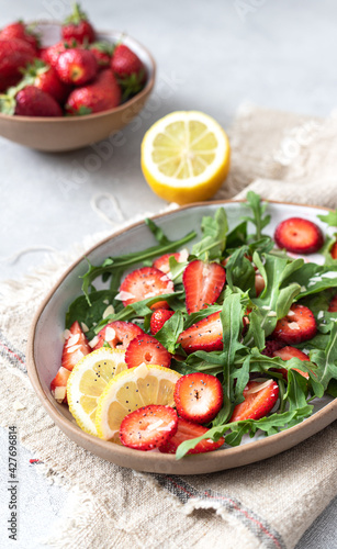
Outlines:
POLYGON ((158 120, 142 143, 144 177, 158 197, 188 204, 213 197, 229 169, 228 137, 198 111, 177 111, 158 120))

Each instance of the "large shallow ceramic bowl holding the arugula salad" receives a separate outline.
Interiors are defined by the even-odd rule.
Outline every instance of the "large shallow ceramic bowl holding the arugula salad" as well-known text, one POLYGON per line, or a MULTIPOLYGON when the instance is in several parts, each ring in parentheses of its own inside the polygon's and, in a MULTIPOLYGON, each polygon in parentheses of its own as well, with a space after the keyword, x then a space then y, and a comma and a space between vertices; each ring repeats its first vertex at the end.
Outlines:
MULTIPOLYGON (((199 231, 200 237, 201 219, 204 215, 213 215, 221 205, 226 210, 229 228, 236 226, 238 217, 247 213, 241 202, 212 202, 181 208, 154 219, 169 238, 179 238, 191 228, 199 231)), ((269 203, 268 210, 272 222, 266 231, 270 234, 273 234, 278 223, 289 216, 300 215, 321 224, 316 215, 325 212, 323 209, 284 203, 269 203)), ((188 244, 189 249, 191 249, 192 243, 188 244)), ((139 250, 155 244, 154 237, 149 234, 145 223, 142 222, 102 240, 86 256, 91 264, 99 265, 108 256, 139 250)), ((70 302, 81 294, 79 276, 87 271, 87 265, 85 257, 80 257, 53 288, 37 311, 29 337, 27 367, 32 384, 46 412, 71 440, 92 453, 119 466, 139 471, 169 474, 210 473, 274 456, 311 437, 337 418, 337 399, 326 397, 321 402, 321 410, 317 407, 310 418, 288 430, 267 438, 248 439, 247 444, 236 448, 187 456, 179 461, 171 455, 133 450, 83 433, 76 425, 68 407, 64 404, 57 404, 54 400, 49 385, 60 366, 65 314, 70 302)))

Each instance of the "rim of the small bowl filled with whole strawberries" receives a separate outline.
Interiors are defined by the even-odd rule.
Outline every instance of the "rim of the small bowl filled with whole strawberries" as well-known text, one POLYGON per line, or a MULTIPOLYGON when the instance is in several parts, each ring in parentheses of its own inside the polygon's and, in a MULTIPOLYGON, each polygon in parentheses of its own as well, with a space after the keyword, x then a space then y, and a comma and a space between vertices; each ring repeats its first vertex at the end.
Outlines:
MULTIPOLYGON (((55 24, 55 25, 60 24, 58 21, 35 21, 35 23, 55 24)), ((97 31, 98 35, 109 36, 109 35, 114 34, 114 33, 121 33, 121 31, 114 31, 114 30, 112 30, 112 31, 97 31)), ((106 116, 109 114, 123 112, 127 108, 130 108, 133 104, 135 104, 136 102, 138 102, 139 99, 144 98, 144 96, 147 96, 147 93, 149 93, 151 91, 151 89, 154 88, 157 65, 156 65, 156 61, 155 61, 153 55, 150 54, 150 52, 145 46, 143 46, 143 44, 141 44, 141 42, 138 42, 136 38, 134 38, 130 34, 123 33, 123 35, 127 38, 131 38, 133 42, 135 42, 137 44, 137 46, 139 46, 139 49, 142 49, 148 56, 150 67, 151 67, 149 78, 148 78, 145 87, 143 88, 143 90, 141 90, 138 93, 136 93, 130 100, 125 101, 125 103, 121 103, 119 107, 113 107, 112 109, 108 109, 106 111, 96 112, 92 114, 82 114, 81 116, 22 116, 22 115, 13 116, 13 115, 3 114, 0 112, 0 120, 5 120, 5 121, 12 120, 14 122, 25 122, 27 124, 30 124, 30 123, 31 124, 32 123, 43 124, 44 122, 55 122, 56 124, 61 124, 61 123, 63 124, 71 124, 71 123, 74 123, 74 121, 81 123, 81 122, 86 122, 88 120, 100 119, 100 117, 106 116)))

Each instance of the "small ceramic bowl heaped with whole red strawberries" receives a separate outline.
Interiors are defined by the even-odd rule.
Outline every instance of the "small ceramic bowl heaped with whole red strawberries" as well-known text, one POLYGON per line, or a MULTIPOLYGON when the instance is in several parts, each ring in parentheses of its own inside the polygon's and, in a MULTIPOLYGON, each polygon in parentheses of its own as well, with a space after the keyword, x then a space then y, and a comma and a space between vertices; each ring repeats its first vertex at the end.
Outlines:
POLYGON ((144 46, 97 32, 79 4, 64 23, 9 24, 0 32, 0 135, 46 152, 106 139, 143 109, 155 71, 144 46))

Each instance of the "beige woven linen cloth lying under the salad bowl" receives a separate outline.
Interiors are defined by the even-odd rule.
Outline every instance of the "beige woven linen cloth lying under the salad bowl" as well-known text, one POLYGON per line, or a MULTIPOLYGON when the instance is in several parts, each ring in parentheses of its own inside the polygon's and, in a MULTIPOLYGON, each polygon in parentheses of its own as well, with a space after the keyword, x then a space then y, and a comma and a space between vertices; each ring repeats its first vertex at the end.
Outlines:
MULTIPOLYGON (((231 141, 231 175, 215 198, 244 198, 249 186, 263 198, 337 208, 334 115, 319 121, 245 105, 231 141)), ((16 425, 22 444, 44 462, 38 469, 69 489, 48 542, 81 549, 293 548, 337 493, 336 422, 266 461, 179 478, 135 473, 97 458, 70 441, 40 404, 25 373, 32 316, 71 260, 102 236, 0 287, 1 423, 16 425)))

